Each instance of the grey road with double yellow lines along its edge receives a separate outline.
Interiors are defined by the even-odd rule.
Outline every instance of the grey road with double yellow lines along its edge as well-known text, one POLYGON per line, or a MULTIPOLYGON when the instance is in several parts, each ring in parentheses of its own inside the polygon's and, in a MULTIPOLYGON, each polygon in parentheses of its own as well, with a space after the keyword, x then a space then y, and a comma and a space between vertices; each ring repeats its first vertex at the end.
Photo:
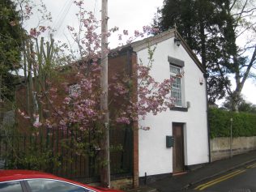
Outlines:
POLYGON ((196 191, 256 192, 256 163, 194 186, 196 191))

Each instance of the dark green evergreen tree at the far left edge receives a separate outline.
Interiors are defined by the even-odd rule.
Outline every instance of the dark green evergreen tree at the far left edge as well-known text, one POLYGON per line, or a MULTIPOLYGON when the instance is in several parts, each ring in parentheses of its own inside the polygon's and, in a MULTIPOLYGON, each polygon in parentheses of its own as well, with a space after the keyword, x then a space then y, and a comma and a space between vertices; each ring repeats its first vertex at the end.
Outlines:
POLYGON ((23 29, 19 22, 19 12, 15 8, 15 3, 11 0, 0 1, 0 100, 13 100, 13 71, 20 67, 23 29))

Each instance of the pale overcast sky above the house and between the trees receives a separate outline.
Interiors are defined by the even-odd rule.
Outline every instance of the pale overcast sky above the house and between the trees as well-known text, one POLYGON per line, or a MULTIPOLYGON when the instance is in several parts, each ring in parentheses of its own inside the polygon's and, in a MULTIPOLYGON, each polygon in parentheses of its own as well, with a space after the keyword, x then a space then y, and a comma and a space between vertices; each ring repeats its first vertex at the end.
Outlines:
MULTIPOLYGON (((77 9, 72 3, 73 0, 42 0, 47 10, 53 16, 53 28, 57 29, 54 34, 55 38, 61 41, 66 40, 68 32, 66 26, 75 27, 77 19, 75 13, 77 9)), ((84 7, 87 11, 92 11, 97 19, 100 20, 101 0, 83 0, 84 7)), ((156 13, 157 7, 163 6, 163 0, 109 0, 109 28, 117 26, 122 30, 129 30, 130 34, 134 30, 142 30, 143 26, 150 25, 152 18, 156 13)), ((132 34, 131 34, 132 35, 132 34)), ((110 39, 111 48, 117 46, 117 41, 110 39)), ((242 94, 245 100, 256 105, 256 82, 247 80, 242 94)), ((218 103, 220 104, 220 102, 218 103)))

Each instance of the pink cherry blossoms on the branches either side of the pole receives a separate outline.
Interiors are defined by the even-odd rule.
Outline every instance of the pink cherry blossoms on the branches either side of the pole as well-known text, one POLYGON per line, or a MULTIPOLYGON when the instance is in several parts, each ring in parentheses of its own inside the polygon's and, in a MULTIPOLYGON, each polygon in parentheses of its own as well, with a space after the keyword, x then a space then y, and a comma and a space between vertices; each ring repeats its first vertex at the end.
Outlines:
MULTIPOLYGON (((105 114, 105 111, 100 110, 100 37, 110 36, 113 32, 117 32, 118 28, 112 28, 106 34, 99 34, 97 28, 100 24, 92 12, 84 10, 83 1, 75 1, 75 5, 79 8, 76 16, 80 25, 79 28, 68 26, 67 29, 79 47, 79 57, 73 55, 74 60, 68 64, 72 68, 70 75, 75 79, 76 91, 70 93, 70 78, 66 76, 62 77, 61 83, 53 83, 54 79, 45 79, 49 89, 45 92, 44 90, 37 92, 36 98, 41 104, 42 112, 47 113, 48 116, 39 118, 39 114, 36 113, 36 117, 32 119, 37 118, 41 122, 34 122, 35 127, 45 126, 69 131, 72 129, 96 130, 102 115, 105 114)), ((27 9, 29 14, 30 8, 27 7, 27 9)), ((31 28, 29 33, 32 39, 36 40, 47 29, 49 28, 39 26, 31 28)), ((151 35, 153 32, 156 32, 155 28, 144 26, 142 32, 135 30, 134 36, 127 37, 127 43, 151 35)), ((123 30, 121 33, 117 35, 120 41, 129 34, 128 30, 123 30)), ((133 122, 143 121, 148 113, 157 115, 173 106, 173 98, 170 96, 172 79, 156 82, 150 75, 154 50, 154 48, 148 49, 147 65, 140 61, 137 63, 136 75, 130 76, 126 72, 122 74, 118 72, 111 77, 109 81, 110 126, 132 125, 133 122), (136 90, 135 83, 137 83, 136 90)), ((118 55, 115 51, 105 51, 112 57, 118 55)), ((36 61, 35 69, 38 70, 36 61)), ((62 67, 58 70, 62 75, 62 67)), ((19 111, 19 114, 22 117, 28 117, 25 112, 19 111)), ((149 130, 149 126, 139 128, 149 130)))

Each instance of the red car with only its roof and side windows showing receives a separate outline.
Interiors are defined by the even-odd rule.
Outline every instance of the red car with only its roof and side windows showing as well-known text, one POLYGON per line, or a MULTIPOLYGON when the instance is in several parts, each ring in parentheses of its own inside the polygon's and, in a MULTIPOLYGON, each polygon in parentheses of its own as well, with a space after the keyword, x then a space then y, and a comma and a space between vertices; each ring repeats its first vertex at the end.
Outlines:
POLYGON ((122 192, 28 170, 0 170, 1 192, 122 192))

